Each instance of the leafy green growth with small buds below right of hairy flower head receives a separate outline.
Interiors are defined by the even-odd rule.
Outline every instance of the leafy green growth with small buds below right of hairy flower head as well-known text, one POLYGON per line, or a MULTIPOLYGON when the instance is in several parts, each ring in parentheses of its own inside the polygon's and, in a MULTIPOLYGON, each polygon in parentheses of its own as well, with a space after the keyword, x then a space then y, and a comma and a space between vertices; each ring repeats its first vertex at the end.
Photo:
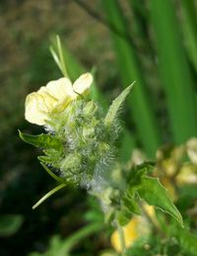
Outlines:
POLYGON ((118 170, 111 173, 111 177, 106 180, 108 187, 105 187, 101 193, 94 194, 104 206, 106 221, 117 219, 120 225, 127 224, 132 215, 141 214, 140 201, 143 200, 148 205, 168 213, 183 226, 182 216, 172 203, 164 186, 159 179, 148 176, 151 170, 153 172, 153 167, 145 163, 127 170, 123 166, 119 167, 119 175, 114 176, 114 172, 118 170))

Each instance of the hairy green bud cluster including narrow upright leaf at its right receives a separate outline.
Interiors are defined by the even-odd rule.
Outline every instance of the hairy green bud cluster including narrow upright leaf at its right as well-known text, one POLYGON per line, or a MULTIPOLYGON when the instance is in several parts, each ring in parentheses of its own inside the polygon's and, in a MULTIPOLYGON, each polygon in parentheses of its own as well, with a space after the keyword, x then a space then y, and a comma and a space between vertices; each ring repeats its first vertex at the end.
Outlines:
POLYGON ((51 112, 46 129, 63 149, 55 158, 52 150, 44 151, 44 163, 59 168, 62 178, 75 185, 93 188, 101 183, 100 177, 106 178, 104 173, 114 161, 118 110, 130 90, 131 86, 113 101, 106 116, 98 104, 83 97, 71 101, 62 112, 51 112))

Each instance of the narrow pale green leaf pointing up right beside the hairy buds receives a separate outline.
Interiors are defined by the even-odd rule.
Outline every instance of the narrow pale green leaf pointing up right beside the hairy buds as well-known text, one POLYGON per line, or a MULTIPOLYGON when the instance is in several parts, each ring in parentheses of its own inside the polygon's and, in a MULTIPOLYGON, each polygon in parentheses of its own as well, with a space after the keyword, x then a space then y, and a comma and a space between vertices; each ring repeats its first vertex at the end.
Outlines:
POLYGON ((122 91, 121 94, 117 96, 115 100, 113 100, 106 114, 106 117, 104 119, 105 125, 110 125, 115 120, 121 105, 126 100, 126 97, 128 96, 128 94, 131 92, 131 89, 133 88, 134 83, 135 82, 129 85, 126 89, 124 89, 124 91, 122 91))

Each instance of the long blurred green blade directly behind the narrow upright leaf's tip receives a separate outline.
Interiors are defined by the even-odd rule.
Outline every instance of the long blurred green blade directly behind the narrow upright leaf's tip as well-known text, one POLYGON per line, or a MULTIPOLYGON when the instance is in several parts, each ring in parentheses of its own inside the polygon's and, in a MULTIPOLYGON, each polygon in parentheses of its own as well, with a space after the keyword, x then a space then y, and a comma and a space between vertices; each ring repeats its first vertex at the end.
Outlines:
MULTIPOLYGON (((109 24, 120 31, 121 34, 126 35, 126 24, 118 2, 114 0, 102 0, 102 4, 109 24)), ((119 62, 122 84, 127 86, 133 80, 136 80, 136 89, 129 97, 128 102, 132 110, 132 118, 140 136, 140 142, 144 146, 148 156, 154 156, 157 148, 161 144, 161 137, 151 107, 151 99, 146 91, 143 71, 131 44, 114 33, 112 33, 112 40, 119 62)))

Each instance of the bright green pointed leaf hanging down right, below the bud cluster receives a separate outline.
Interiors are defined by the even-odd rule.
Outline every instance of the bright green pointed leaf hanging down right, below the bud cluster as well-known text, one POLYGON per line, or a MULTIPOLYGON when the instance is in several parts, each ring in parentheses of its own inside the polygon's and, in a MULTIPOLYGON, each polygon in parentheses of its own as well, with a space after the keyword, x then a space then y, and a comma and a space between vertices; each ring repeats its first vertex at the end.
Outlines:
POLYGON ((183 226, 181 214, 173 205, 166 189, 160 183, 159 179, 144 176, 141 180, 141 187, 138 189, 138 193, 141 199, 146 201, 149 205, 155 206, 165 213, 170 214, 183 226))

